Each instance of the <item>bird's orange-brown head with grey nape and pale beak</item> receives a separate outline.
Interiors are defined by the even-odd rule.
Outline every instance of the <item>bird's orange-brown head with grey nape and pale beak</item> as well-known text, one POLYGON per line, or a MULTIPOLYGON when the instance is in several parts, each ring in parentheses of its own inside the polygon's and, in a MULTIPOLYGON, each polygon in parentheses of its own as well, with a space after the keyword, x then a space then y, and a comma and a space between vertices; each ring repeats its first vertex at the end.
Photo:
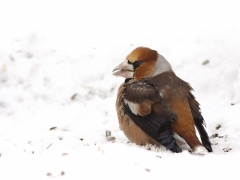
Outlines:
POLYGON ((157 51, 138 47, 113 70, 113 75, 140 80, 171 70, 171 65, 157 51))

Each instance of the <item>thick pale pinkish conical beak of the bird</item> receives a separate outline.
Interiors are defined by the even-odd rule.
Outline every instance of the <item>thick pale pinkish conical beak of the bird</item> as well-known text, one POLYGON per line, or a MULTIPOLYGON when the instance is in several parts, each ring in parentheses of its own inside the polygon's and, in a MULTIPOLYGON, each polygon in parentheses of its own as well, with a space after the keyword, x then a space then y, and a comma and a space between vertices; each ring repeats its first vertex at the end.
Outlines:
POLYGON ((128 60, 125 60, 113 70, 113 75, 122 76, 124 78, 133 78, 133 65, 129 64, 128 60))

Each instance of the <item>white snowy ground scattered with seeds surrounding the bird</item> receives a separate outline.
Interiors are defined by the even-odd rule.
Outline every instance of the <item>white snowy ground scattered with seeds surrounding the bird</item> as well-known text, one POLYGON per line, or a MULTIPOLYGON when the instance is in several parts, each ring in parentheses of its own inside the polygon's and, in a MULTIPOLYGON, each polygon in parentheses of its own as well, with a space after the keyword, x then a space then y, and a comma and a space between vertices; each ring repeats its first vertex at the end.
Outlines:
POLYGON ((0 179, 240 179, 239 9, 238 0, 1 0, 0 179), (112 70, 138 46, 193 86, 213 153, 128 142, 112 70))

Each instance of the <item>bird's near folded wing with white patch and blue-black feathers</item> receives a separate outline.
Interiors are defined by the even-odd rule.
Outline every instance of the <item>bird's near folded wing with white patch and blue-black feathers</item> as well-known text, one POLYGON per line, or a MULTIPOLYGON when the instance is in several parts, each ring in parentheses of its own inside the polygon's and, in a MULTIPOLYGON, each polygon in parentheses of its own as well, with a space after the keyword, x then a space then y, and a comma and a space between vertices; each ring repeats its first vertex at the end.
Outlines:
POLYGON ((177 115, 158 91, 144 81, 125 83, 124 111, 146 134, 174 152, 182 150, 173 137, 171 122, 177 115))

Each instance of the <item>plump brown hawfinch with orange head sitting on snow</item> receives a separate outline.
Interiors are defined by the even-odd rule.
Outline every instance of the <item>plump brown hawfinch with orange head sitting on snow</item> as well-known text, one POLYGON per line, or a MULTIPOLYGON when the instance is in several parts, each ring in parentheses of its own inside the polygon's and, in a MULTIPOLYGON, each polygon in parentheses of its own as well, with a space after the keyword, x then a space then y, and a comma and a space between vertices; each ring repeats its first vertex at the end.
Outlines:
POLYGON ((161 144, 172 152, 181 152, 175 140, 178 135, 195 153, 212 152, 192 87, 176 76, 157 51, 134 49, 113 75, 126 78, 118 89, 116 110, 120 128, 131 142, 161 144))

